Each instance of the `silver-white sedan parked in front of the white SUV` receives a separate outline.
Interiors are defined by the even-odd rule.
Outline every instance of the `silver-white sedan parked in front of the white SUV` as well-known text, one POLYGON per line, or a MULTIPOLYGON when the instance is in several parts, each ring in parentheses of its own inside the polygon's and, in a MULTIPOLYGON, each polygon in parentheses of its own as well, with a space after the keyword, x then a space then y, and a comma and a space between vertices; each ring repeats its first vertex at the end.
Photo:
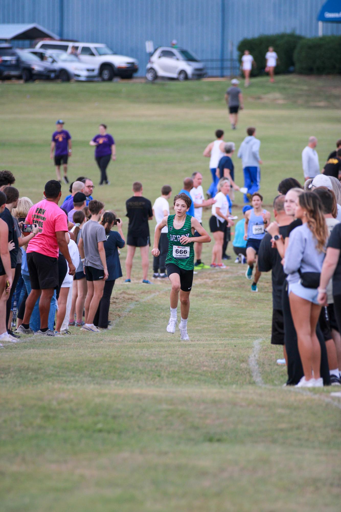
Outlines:
POLYGON ((47 61, 54 65, 62 82, 98 80, 97 68, 81 62, 76 55, 65 53, 62 50, 46 51, 36 48, 30 48, 27 52, 40 61, 47 61))

